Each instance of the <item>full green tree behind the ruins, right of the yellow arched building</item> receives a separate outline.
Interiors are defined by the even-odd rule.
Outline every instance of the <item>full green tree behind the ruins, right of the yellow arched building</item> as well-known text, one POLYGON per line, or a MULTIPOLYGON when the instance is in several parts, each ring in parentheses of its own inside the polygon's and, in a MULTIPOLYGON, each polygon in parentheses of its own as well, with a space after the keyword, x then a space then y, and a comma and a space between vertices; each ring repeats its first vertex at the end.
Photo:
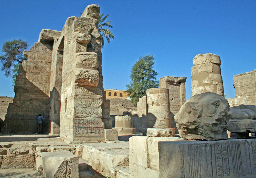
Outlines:
POLYGON ((127 94, 132 98, 132 103, 137 105, 139 98, 146 96, 148 88, 158 88, 159 81, 156 80, 157 72, 153 70, 154 57, 150 55, 140 56, 139 60, 132 66, 131 81, 127 87, 127 94))

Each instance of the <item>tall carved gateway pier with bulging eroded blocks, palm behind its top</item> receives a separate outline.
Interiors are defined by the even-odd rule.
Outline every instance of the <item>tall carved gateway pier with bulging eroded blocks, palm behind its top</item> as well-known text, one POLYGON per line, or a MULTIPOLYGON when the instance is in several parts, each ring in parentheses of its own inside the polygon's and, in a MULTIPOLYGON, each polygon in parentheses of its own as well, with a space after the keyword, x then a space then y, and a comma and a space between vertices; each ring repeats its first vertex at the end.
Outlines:
POLYGON ((65 37, 62 68, 60 138, 71 142, 104 139, 100 6, 69 17, 58 40, 65 37))

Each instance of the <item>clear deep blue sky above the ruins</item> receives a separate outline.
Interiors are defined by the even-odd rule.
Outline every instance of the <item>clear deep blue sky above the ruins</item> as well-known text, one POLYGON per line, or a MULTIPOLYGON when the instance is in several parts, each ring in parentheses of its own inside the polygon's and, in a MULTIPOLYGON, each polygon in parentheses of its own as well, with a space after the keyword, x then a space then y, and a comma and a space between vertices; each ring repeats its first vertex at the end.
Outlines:
MULTIPOLYGON (((110 14, 115 39, 102 50, 104 88, 126 90, 140 55, 155 57, 157 78, 184 76, 191 97, 193 58, 221 58, 224 93, 235 97, 233 75, 256 69, 256 1, 6 1, 0 0, 0 45, 23 39, 29 48, 41 29, 62 30, 89 4, 110 14)), ((11 78, 0 71, 0 96, 14 96, 11 78)))

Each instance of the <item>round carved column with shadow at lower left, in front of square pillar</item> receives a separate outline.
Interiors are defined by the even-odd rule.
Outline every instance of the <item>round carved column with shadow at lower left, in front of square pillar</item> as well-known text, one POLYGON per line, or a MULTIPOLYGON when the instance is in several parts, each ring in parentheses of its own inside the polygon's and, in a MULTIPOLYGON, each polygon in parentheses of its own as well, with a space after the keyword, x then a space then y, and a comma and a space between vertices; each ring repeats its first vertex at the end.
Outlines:
POLYGON ((166 88, 147 89, 147 127, 170 128, 169 90, 166 88))

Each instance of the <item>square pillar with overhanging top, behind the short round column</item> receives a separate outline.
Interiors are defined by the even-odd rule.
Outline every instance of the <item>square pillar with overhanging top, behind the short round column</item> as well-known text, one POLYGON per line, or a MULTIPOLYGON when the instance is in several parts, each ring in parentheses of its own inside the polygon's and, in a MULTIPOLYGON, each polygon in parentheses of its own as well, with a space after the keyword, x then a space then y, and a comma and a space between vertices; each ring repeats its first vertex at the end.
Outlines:
POLYGON ((175 128, 175 132, 178 133, 178 129, 174 122, 174 115, 180 110, 180 107, 186 101, 186 89, 185 82, 187 77, 172 77, 165 76, 160 78, 160 88, 169 89, 169 102, 170 102, 170 117, 171 126, 175 128))

